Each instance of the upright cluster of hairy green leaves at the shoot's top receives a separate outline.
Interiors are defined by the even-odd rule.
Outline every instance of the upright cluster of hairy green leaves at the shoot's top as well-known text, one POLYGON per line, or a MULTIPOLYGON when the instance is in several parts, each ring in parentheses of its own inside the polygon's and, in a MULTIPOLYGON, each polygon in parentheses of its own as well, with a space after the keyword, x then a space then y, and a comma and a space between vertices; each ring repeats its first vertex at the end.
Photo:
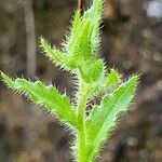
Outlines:
POLYGON ((102 0, 95 0, 92 8, 83 16, 76 13, 69 36, 64 44, 69 54, 70 65, 89 66, 90 60, 96 58, 99 46, 99 22, 102 17, 102 0), (84 64, 86 65, 84 65, 84 64))

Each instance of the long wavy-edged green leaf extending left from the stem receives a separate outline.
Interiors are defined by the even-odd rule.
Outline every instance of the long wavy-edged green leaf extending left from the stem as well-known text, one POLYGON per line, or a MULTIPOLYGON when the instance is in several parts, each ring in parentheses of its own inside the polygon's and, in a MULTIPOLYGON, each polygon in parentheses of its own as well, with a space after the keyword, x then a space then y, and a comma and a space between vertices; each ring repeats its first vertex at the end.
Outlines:
POLYGON ((71 108, 68 97, 60 95, 54 86, 45 86, 41 81, 29 82, 19 78, 13 81, 3 72, 1 72, 1 77, 12 90, 25 94, 37 105, 45 106, 50 113, 56 114, 67 124, 77 125, 76 112, 71 108))

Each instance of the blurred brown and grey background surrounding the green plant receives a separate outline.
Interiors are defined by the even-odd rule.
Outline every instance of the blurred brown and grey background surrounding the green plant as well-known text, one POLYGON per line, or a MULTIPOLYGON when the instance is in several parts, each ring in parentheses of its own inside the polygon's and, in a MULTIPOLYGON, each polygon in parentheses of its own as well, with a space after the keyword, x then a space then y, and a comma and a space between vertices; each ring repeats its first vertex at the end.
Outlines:
MULTIPOLYGON (((84 9, 90 0, 84 0, 84 9)), ((41 36, 60 45, 77 0, 0 0, 0 70, 38 77, 60 92, 71 78, 50 63, 41 36)), ((106 0, 102 48, 108 67, 123 78, 143 73, 135 104, 97 162, 162 162, 162 0, 106 0)), ((72 135, 43 109, 0 82, 0 162, 70 162, 72 135)))

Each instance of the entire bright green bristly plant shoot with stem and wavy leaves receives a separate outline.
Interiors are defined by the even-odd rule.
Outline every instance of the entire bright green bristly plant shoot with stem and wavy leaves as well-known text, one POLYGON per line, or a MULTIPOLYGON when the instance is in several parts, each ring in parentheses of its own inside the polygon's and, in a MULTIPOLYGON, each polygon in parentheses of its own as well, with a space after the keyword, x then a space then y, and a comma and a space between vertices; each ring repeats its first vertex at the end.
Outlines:
POLYGON ((76 137, 72 154, 77 162, 95 161, 102 146, 116 129, 118 116, 126 112, 138 82, 138 76, 122 82, 118 71, 110 69, 107 72, 104 59, 97 57, 102 12, 102 0, 93 0, 91 8, 82 15, 76 11, 62 49, 40 39, 45 55, 56 66, 77 76, 77 105, 70 103, 66 94, 59 94, 53 85, 45 86, 41 81, 11 79, 1 72, 9 87, 24 93, 37 105, 44 106, 52 116, 71 129, 76 137), (99 97, 100 102, 93 105, 87 114, 86 105, 94 97, 99 97))

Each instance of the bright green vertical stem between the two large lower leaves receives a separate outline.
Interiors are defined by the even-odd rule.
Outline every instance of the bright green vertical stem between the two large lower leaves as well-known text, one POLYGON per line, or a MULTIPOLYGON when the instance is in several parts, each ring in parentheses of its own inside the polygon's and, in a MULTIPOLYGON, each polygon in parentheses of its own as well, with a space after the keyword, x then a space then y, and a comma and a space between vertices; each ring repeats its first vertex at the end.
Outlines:
POLYGON ((84 116, 86 108, 86 89, 81 86, 78 103, 78 162, 86 162, 86 143, 85 143, 85 125, 84 116))

